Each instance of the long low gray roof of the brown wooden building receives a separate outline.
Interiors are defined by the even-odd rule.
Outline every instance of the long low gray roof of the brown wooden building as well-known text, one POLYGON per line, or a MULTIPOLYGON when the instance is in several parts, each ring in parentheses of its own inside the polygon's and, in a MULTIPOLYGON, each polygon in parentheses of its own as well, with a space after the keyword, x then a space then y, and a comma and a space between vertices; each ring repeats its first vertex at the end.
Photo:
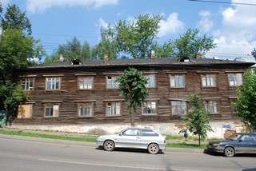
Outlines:
POLYGON ((210 58, 190 59, 189 62, 180 62, 178 58, 155 58, 155 59, 115 59, 115 60, 86 60, 81 65, 70 65, 70 62, 54 62, 30 66, 30 69, 63 68, 63 67, 104 67, 104 66, 216 66, 238 65, 253 66, 254 62, 239 62, 210 58))

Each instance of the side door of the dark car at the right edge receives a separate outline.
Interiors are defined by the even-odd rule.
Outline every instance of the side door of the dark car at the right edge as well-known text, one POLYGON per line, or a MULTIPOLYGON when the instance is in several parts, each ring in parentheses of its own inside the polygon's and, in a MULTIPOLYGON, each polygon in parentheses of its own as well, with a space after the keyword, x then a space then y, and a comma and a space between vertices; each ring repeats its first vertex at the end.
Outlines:
POLYGON ((254 150, 255 150, 254 137, 250 134, 242 135, 239 138, 237 153, 254 153, 254 150))

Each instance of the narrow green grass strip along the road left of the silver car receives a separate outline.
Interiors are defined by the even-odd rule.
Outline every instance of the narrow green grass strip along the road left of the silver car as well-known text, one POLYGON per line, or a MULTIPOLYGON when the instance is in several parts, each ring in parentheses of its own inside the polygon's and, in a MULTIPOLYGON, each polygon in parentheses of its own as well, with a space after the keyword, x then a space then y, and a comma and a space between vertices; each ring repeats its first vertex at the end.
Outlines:
POLYGON ((50 135, 50 134, 42 134, 42 133, 25 133, 22 131, 6 131, 6 130, 0 130, 0 133, 6 134, 6 135, 18 135, 18 136, 24 136, 24 137, 42 137, 42 138, 55 139, 55 140, 96 142, 96 137, 68 137, 68 136, 50 135))

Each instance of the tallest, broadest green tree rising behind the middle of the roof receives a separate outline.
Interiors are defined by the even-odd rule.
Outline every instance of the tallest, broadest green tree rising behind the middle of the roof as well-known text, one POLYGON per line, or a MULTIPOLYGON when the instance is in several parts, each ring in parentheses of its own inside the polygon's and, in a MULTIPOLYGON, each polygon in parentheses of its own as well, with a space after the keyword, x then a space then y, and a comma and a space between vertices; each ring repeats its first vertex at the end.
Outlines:
POLYGON ((147 58, 158 34, 162 15, 139 15, 134 21, 125 20, 115 24, 118 51, 132 58, 147 58))

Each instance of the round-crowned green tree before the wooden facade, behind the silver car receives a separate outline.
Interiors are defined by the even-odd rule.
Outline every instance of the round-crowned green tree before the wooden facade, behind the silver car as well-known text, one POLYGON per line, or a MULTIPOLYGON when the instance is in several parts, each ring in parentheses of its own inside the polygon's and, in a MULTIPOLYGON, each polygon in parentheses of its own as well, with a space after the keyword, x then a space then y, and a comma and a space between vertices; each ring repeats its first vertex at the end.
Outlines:
POLYGON ((134 114, 136 114, 136 107, 142 106, 143 101, 149 95, 148 89, 146 89, 147 79, 143 76, 142 72, 134 68, 125 70, 120 74, 116 80, 119 82, 120 95, 124 95, 125 101, 130 101, 128 105, 130 113, 130 122, 134 126, 134 114), (133 112, 133 113, 132 113, 133 112))

